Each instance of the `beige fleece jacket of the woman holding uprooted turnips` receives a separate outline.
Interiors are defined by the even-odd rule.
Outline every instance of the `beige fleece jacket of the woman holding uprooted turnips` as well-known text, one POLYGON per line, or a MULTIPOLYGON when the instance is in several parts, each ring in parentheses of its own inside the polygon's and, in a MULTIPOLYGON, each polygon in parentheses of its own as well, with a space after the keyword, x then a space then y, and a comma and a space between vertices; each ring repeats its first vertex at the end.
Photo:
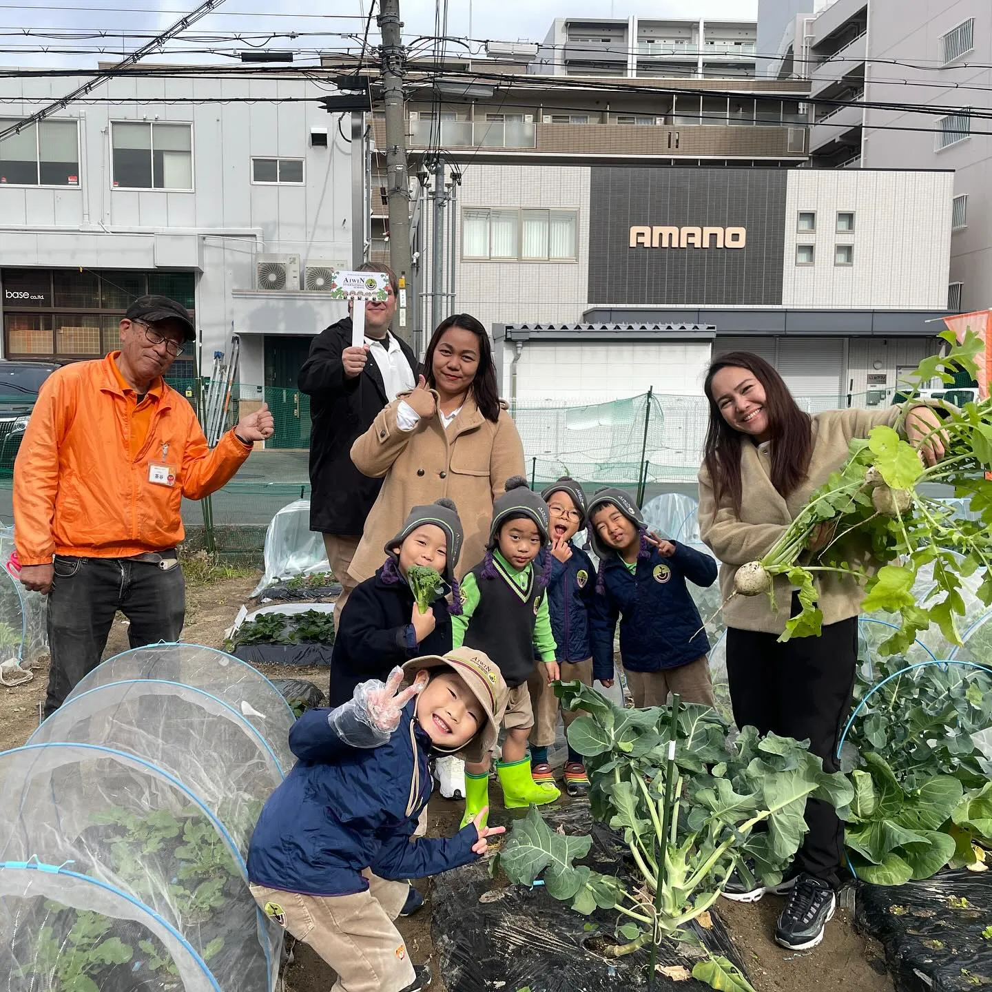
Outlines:
MULTIPOLYGON (((775 579, 778 611, 773 611, 767 595, 734 596, 734 575, 740 565, 767 555, 786 529, 806 506, 813 489, 826 482, 847 460, 847 444, 852 437, 866 437, 872 428, 892 427, 898 407, 883 410, 834 410, 812 418, 812 457, 804 482, 783 497, 772 485, 771 452, 759 450, 741 435, 741 508, 735 513, 729 497, 717 505, 713 485, 705 466, 699 470, 699 536, 720 561, 720 594, 723 619, 739 630, 781 634, 786 629, 792 593, 789 579, 775 579)), ((853 557, 853 556, 852 556, 853 557)), ((819 572, 815 579, 823 624, 857 616, 864 593, 847 575, 819 572)))

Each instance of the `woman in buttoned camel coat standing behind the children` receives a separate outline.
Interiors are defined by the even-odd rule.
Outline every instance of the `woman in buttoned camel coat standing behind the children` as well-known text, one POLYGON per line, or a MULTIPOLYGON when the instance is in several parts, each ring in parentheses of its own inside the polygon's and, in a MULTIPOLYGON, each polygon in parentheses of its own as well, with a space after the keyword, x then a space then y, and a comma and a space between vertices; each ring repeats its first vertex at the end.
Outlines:
POLYGON ((358 470, 384 478, 348 569, 356 582, 383 561, 383 545, 413 506, 454 501, 465 532, 457 577, 482 560, 493 499, 524 474, 524 447, 499 401, 485 327, 468 313, 438 324, 412 393, 398 397, 351 447, 358 470))

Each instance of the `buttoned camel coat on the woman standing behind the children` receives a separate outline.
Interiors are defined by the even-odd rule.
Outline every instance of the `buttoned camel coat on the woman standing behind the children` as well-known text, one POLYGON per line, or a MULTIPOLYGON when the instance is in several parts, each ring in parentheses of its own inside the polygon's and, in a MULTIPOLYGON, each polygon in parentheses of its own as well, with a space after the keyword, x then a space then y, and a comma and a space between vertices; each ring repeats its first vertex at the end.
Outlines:
POLYGON ((401 431, 397 397, 351 446, 358 470, 384 478, 348 572, 369 578, 385 560, 383 545, 403 526, 414 506, 446 496, 458 508, 465 543, 455 568, 458 578, 485 555, 493 500, 511 475, 524 474, 524 445, 513 418, 501 410, 493 424, 469 397, 445 431, 440 416, 422 418, 413 431, 401 431))

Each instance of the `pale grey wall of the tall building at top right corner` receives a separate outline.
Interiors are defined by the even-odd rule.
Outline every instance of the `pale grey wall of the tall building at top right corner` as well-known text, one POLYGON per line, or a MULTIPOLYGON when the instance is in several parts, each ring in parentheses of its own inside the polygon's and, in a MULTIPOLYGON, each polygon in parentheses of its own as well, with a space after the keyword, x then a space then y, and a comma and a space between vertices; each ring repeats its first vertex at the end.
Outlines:
MULTIPOLYGON (((947 4, 932 0, 870 3, 868 57, 867 100, 992 110, 992 5, 987 0, 953 0, 947 4), (943 67, 940 36, 967 18, 974 18, 974 50, 943 67), (898 71, 886 62, 893 59, 900 63, 898 71), (955 86, 971 88, 955 89, 955 86)), ((992 306, 989 139, 975 134, 935 151, 935 115, 874 109, 866 110, 865 114, 865 166, 954 171, 954 193, 966 193, 968 206, 967 227, 955 231, 951 237, 949 281, 964 284, 963 310, 992 306), (897 127, 918 130, 899 131, 895 130, 897 127)), ((987 124, 976 119, 971 127, 976 132, 987 131, 987 124)))

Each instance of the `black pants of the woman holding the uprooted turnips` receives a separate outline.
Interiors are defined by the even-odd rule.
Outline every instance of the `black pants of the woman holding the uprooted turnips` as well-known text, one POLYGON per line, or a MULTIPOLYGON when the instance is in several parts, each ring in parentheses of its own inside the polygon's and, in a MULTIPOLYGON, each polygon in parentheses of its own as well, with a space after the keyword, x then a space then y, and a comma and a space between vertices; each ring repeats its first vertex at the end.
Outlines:
MULTIPOLYGON (((775 634, 727 628, 727 681, 737 726, 798 740, 836 772, 837 741, 851 708, 858 657, 857 617, 828 624, 819 637, 779 644, 775 634)), ((829 803, 806 801, 809 832, 795 867, 839 888, 844 824, 829 803)))

